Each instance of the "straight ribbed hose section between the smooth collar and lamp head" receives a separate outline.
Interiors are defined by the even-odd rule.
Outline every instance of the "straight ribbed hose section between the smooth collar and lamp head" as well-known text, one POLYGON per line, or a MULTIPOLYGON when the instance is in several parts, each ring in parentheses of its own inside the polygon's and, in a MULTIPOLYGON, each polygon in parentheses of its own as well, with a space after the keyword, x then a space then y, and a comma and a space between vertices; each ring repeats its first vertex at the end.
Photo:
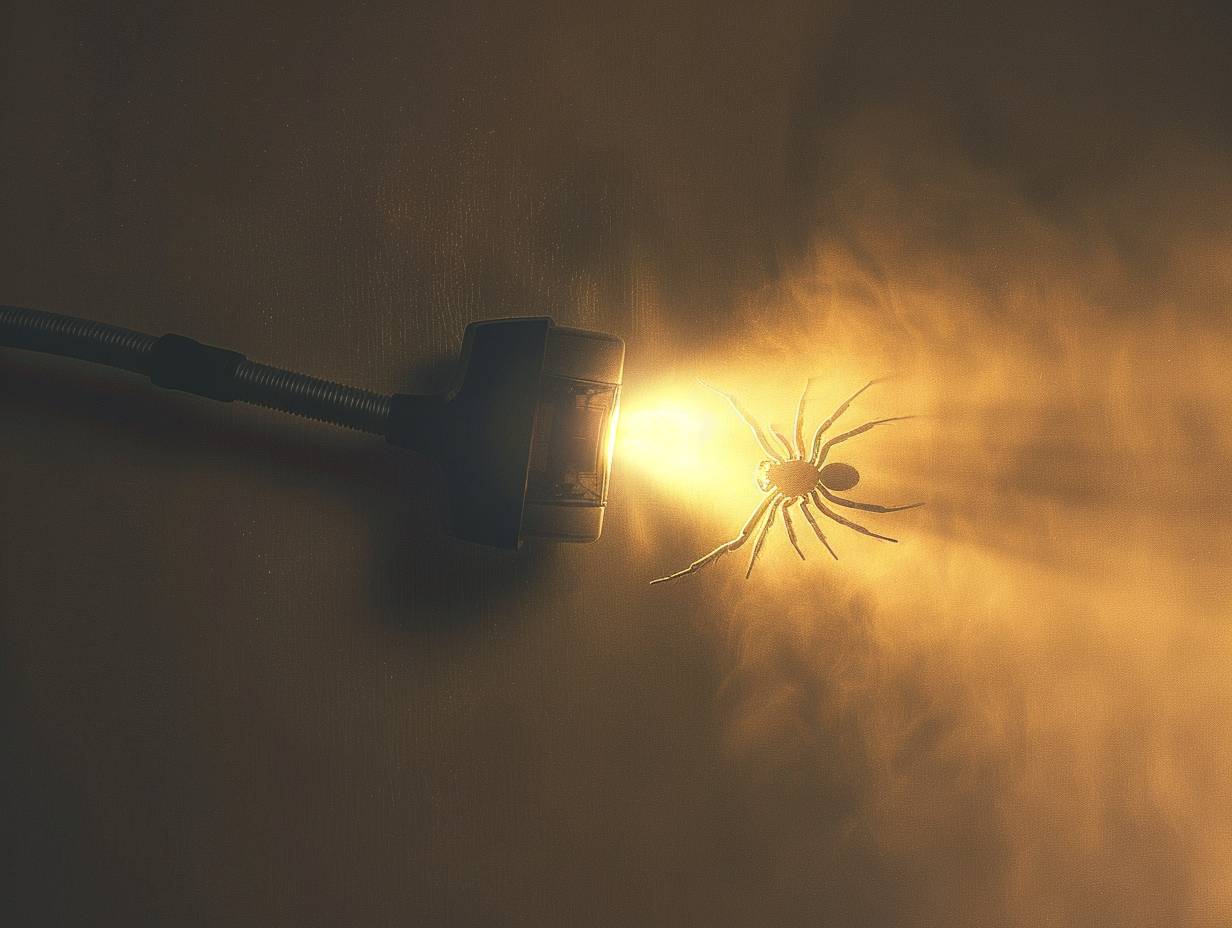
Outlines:
POLYGON ((240 361, 233 375, 235 399, 307 419, 384 435, 389 397, 280 367, 240 361))

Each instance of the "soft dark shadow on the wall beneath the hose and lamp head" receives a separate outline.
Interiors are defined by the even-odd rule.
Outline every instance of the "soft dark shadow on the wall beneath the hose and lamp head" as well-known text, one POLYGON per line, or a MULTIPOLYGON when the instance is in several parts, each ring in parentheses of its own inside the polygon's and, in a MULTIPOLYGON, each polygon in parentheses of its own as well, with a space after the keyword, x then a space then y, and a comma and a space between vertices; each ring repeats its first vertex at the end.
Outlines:
MULTIPOLYGON (((81 430, 83 442, 107 431, 138 458, 156 449, 160 462, 171 467, 176 458, 214 460, 293 482, 304 490, 307 507, 318 498, 351 500, 367 513, 375 552, 371 577, 356 582, 372 590, 375 610, 394 627, 439 632, 464 626, 499 610, 551 563, 547 545, 508 552, 450 537, 436 466, 377 436, 272 418, 243 404, 222 407, 113 372, 54 361, 48 370, 47 361, 7 354, 2 403, 68 421, 81 430)), ((455 366, 453 359, 440 359, 408 380, 447 385, 455 366)), ((192 543, 190 536, 185 543, 192 543)))

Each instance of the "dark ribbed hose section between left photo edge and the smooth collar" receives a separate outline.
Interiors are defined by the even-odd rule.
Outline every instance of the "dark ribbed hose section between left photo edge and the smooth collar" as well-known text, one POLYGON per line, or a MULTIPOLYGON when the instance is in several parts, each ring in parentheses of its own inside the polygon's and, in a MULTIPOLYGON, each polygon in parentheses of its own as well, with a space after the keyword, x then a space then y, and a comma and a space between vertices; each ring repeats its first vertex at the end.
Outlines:
POLYGON ((153 335, 118 325, 0 306, 0 345, 5 348, 43 351, 149 373, 149 357, 155 341, 158 339, 153 335))

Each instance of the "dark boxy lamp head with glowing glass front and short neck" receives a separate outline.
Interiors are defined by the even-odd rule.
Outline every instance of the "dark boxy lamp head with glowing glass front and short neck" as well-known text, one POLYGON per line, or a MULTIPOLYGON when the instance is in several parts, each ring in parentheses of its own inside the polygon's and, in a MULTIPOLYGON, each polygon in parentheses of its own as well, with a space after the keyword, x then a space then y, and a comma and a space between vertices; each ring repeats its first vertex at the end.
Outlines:
POLYGON ((394 396, 386 438, 440 462, 461 539, 595 541, 623 367, 614 335, 547 318, 473 323, 453 389, 394 396))

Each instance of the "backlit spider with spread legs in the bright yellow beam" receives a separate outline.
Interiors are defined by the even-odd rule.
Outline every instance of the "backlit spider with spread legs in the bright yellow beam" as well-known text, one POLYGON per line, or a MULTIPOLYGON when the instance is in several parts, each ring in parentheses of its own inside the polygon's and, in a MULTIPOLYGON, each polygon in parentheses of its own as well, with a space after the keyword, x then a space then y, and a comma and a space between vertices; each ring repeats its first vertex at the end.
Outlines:
POLYGON ((838 497, 833 493, 833 490, 843 492, 855 487, 855 484, 860 482, 860 472, 848 463, 839 463, 837 461, 825 463, 825 456, 829 454, 832 447, 846 441, 848 439, 854 439, 856 435, 862 435, 875 425, 915 418, 913 415, 896 415, 890 419, 873 419, 872 421, 851 429, 851 431, 844 431, 841 435, 835 435, 824 445, 822 444, 822 436, 825 434, 825 430, 829 429, 834 421, 848 410, 848 407, 855 402, 856 397, 869 389, 869 387, 873 383, 881 383, 882 380, 885 378, 871 380, 865 383, 860 389, 851 394, 850 399, 835 409, 834 414, 830 415, 829 419, 818 426, 817 431, 813 434, 811 454, 806 454, 803 417, 804 402, 808 398, 808 388, 812 385, 812 381, 804 386, 804 392, 800 397, 800 404, 796 407, 795 449, 792 449, 792 444, 787 440, 787 436, 779 431, 772 424, 770 425, 770 433, 780 442, 781 447, 771 445, 770 440, 766 438, 765 430, 758 420, 749 414, 748 409, 740 404, 739 399, 731 393, 724 393, 717 387, 702 383, 703 387, 713 389, 732 404, 732 408, 736 409, 737 414, 739 414, 748 426, 753 429, 753 436, 758 440, 761 449, 770 455, 769 458, 758 465, 756 470, 758 488, 765 493, 766 497, 758 504, 758 508, 753 510, 753 515, 749 516, 747 523, 744 523, 744 527, 740 529, 739 535, 731 541, 723 542, 705 557, 697 558, 683 571, 676 571, 667 577, 650 580, 650 584, 665 583, 667 580, 674 580, 678 577, 695 573, 706 564, 713 563, 728 551, 736 551, 736 548, 740 547, 749 540, 753 531, 756 529, 758 523, 761 521, 761 518, 765 516, 766 511, 770 513, 770 516, 765 520, 765 524, 763 524, 761 531, 758 534, 756 543, 753 545, 753 555, 749 557, 749 567, 744 572, 744 578, 748 579, 753 574, 753 564, 756 563, 758 555, 761 553, 761 545, 770 531, 770 526, 774 525, 775 516, 780 510, 782 511, 784 527, 787 530, 787 540, 791 541, 791 546, 796 548, 796 553, 800 555, 801 561, 803 561, 804 552, 800 548, 800 541, 796 537, 796 526, 792 525, 791 521, 791 508, 797 503, 800 503, 800 511, 804 514, 804 519, 807 519, 808 524, 813 527, 818 540, 837 561, 839 556, 834 553, 834 548, 832 548, 830 542, 825 540, 825 535, 817 524, 817 519, 813 518, 813 513, 808 508, 809 500, 812 500, 813 505, 817 507, 817 510, 822 515, 833 519, 839 525, 845 525, 861 535, 881 539, 882 541, 898 541, 898 539, 892 539, 888 535, 878 535, 875 531, 870 531, 850 519, 844 519, 822 502, 822 498, 824 497, 835 505, 846 507, 848 509, 862 509, 866 513, 899 513, 904 509, 915 509, 917 507, 924 505, 923 503, 910 503, 908 505, 883 507, 873 503, 857 503, 854 499, 844 499, 843 497, 838 497))

